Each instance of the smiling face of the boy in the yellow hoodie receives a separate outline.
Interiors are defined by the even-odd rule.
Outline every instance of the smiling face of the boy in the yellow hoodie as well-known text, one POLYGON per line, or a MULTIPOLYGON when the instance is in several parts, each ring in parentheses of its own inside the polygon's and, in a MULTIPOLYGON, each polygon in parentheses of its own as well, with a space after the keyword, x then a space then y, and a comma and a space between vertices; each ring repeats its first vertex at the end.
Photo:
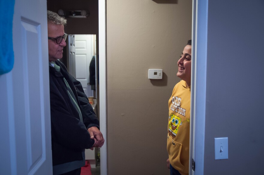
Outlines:
POLYGON ((188 86, 191 83, 191 62, 192 62, 192 46, 187 45, 184 47, 182 56, 178 61, 177 76, 184 80, 188 86))

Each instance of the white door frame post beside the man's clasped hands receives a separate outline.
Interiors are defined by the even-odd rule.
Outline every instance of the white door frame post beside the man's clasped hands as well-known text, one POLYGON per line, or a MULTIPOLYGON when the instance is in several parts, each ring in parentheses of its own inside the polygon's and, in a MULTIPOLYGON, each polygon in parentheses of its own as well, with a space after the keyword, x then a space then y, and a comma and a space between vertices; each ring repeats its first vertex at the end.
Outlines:
POLYGON ((98 0, 99 17, 99 102, 100 131, 104 145, 100 149, 101 175, 107 175, 107 79, 106 79, 106 0, 98 0))

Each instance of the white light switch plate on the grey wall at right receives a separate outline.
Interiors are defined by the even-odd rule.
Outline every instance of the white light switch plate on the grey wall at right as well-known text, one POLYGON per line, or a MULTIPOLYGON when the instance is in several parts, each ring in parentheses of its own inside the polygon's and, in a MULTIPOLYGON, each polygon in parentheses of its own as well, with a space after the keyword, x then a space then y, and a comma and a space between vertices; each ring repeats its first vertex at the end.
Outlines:
POLYGON ((214 160, 228 159, 228 137, 214 138, 214 160))

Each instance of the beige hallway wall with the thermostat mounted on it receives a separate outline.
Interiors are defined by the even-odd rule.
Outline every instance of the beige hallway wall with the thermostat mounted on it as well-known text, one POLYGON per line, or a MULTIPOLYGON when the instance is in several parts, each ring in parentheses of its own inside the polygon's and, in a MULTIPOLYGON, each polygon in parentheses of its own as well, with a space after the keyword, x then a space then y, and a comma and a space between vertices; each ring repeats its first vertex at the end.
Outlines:
POLYGON ((169 174, 168 100, 191 15, 191 0, 107 0, 108 175, 169 174))

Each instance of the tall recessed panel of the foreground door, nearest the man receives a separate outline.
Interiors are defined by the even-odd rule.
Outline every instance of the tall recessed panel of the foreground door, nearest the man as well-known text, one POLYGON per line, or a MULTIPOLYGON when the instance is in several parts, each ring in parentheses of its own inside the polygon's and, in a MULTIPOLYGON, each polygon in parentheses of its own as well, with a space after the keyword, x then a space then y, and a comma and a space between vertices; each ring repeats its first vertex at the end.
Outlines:
MULTIPOLYGON (((41 41, 40 25, 34 21, 22 18, 22 45, 23 49, 22 64, 24 65, 23 82, 24 87, 24 113, 25 113, 25 135, 26 135, 26 152, 29 172, 34 169, 35 165, 43 162, 43 139, 45 140, 45 128, 42 128, 42 118, 45 116, 41 113, 41 87, 40 82, 40 62, 41 57, 39 42, 41 41), (34 58, 34 63, 30 60, 34 58), (33 64, 33 66, 32 66, 33 64), (31 95, 31 94, 34 94, 31 95), (44 130, 43 130, 44 129, 44 130), (35 142, 38 141, 38 142, 35 142)), ((33 61, 33 60, 32 60, 33 61)), ((42 65, 41 65, 42 66, 42 65)), ((42 98, 43 99, 43 98, 42 98)), ((19 115, 19 114, 18 114, 19 115)), ((45 142, 45 141, 44 141, 45 142)))

